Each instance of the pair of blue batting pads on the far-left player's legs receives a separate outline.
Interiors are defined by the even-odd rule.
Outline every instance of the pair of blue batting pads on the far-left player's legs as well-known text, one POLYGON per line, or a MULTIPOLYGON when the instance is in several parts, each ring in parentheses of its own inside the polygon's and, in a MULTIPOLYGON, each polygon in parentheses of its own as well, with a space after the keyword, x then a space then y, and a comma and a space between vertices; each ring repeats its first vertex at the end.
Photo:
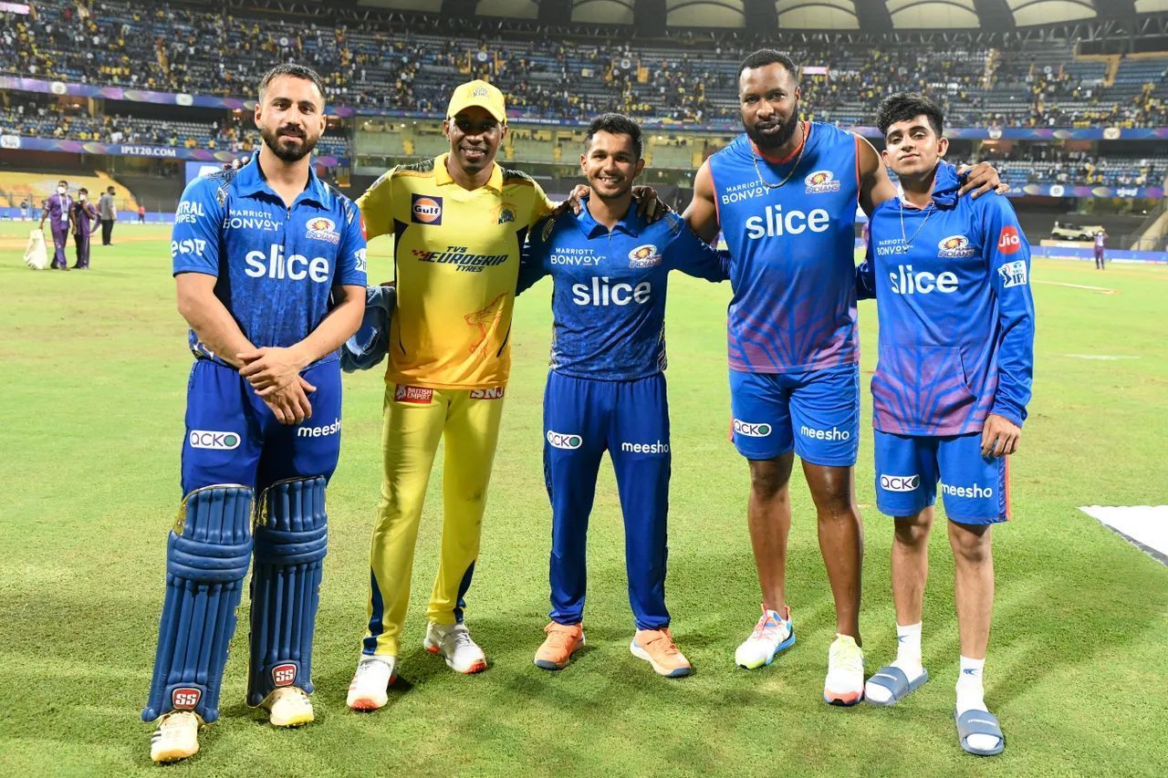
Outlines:
POLYGON ((251 489, 208 486, 183 500, 167 543, 166 599, 144 721, 172 710, 218 718, 220 687, 255 546, 248 703, 276 688, 312 692, 312 637, 327 543, 325 479, 263 492, 251 535, 251 489))

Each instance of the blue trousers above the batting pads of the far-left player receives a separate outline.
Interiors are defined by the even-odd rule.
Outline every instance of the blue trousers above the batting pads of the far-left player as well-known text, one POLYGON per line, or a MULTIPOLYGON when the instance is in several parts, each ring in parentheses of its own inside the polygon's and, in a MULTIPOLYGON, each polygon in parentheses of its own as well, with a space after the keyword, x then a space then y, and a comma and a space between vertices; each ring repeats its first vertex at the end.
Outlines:
POLYGON ((258 494, 288 478, 332 477, 341 452, 341 363, 317 363, 301 375, 317 387, 308 395, 312 417, 286 425, 234 368, 195 360, 187 383, 183 495, 214 484, 242 484, 258 494))

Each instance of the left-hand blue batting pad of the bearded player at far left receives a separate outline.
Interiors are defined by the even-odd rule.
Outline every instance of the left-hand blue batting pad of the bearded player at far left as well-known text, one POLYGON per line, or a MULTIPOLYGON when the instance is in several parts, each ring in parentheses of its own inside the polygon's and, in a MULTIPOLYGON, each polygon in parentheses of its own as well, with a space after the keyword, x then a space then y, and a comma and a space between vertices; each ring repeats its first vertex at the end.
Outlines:
POLYGON ((166 599, 142 721, 172 710, 218 718, 227 647, 251 561, 251 489, 188 494, 166 546, 166 599))

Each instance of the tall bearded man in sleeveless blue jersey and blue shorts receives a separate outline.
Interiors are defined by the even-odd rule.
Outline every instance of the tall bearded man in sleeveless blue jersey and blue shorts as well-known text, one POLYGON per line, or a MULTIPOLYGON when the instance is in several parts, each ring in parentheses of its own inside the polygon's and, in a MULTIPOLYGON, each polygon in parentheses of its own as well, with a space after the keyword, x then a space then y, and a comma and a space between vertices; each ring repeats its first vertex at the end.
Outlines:
MULTIPOLYGON (((751 543, 763 614, 735 653, 770 665, 794 642, 786 605, 788 481, 798 453, 819 519, 835 599, 836 639, 823 699, 863 696, 860 648, 862 529, 853 493, 860 431, 854 282, 855 211, 896 195, 876 151, 850 132, 799 118, 790 57, 763 49, 739 69, 745 134, 710 157, 694 180, 686 220, 730 249, 734 442, 750 461, 751 543)), ((986 166, 962 189, 997 183, 986 166)))

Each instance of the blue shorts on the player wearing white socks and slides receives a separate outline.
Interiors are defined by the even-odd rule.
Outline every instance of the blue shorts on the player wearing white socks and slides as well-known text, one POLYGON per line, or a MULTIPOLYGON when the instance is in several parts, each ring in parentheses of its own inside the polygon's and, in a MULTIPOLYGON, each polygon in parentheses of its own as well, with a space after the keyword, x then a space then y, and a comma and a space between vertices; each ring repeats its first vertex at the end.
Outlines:
POLYGON ((890 516, 912 516, 937 501, 940 481, 945 514, 959 525, 1009 519, 1009 457, 982 457, 981 433, 911 436, 875 432, 876 507, 890 516))

